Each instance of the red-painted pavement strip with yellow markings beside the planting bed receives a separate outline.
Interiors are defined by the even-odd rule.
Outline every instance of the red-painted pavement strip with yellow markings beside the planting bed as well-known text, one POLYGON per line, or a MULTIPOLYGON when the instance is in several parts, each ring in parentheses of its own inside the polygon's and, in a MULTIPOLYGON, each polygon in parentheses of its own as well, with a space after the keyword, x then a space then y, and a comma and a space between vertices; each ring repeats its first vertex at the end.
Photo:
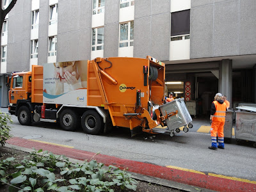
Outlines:
POLYGON ((156 164, 95 154, 84 150, 77 150, 76 148, 67 148, 56 144, 54 145, 54 143, 42 143, 22 138, 11 138, 7 143, 6 147, 15 147, 19 150, 28 151, 31 148, 35 148, 36 150, 48 150, 54 154, 65 155, 69 158, 81 161, 85 159, 95 159, 97 162, 103 163, 106 166, 112 164, 120 169, 128 168, 129 172, 132 172, 132 175, 134 175, 136 179, 182 189, 184 191, 256 191, 256 181, 246 179, 226 177, 182 168, 168 168, 156 164))

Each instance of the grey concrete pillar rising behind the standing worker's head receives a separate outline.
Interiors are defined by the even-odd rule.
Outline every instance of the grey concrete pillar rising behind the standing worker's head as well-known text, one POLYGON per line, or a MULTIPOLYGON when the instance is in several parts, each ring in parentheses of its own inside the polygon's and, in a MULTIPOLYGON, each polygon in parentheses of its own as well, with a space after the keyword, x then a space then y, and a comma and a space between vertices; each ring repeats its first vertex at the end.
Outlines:
POLYGON ((232 108, 232 60, 221 60, 219 74, 219 92, 227 95, 232 108))

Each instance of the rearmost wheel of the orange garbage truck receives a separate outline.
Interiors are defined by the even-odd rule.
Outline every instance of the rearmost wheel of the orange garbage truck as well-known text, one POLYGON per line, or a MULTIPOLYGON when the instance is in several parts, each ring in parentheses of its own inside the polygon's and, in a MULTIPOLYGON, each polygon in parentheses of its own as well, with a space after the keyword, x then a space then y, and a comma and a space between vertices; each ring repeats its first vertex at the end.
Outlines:
POLYGON ((99 134, 100 131, 102 131, 103 122, 99 113, 93 110, 88 110, 85 111, 82 116, 81 125, 85 133, 99 134))

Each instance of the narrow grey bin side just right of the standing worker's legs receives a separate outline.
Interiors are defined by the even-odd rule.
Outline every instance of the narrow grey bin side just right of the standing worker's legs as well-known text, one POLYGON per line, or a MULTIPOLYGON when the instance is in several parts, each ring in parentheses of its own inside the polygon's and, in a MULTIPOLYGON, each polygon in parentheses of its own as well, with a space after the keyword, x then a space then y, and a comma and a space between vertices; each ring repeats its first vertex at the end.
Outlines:
POLYGON ((234 120, 234 110, 228 109, 226 112, 225 125, 224 125, 224 141, 230 143, 232 138, 232 129, 233 129, 233 120, 234 120))

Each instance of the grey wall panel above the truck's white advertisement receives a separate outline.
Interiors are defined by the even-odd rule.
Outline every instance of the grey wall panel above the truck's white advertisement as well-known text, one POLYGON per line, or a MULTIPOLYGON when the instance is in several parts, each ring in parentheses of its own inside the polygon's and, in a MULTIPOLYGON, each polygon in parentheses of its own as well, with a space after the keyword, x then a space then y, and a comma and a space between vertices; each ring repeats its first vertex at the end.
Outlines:
POLYGON ((58 3, 57 61, 90 59, 92 1, 62 0, 58 3))

